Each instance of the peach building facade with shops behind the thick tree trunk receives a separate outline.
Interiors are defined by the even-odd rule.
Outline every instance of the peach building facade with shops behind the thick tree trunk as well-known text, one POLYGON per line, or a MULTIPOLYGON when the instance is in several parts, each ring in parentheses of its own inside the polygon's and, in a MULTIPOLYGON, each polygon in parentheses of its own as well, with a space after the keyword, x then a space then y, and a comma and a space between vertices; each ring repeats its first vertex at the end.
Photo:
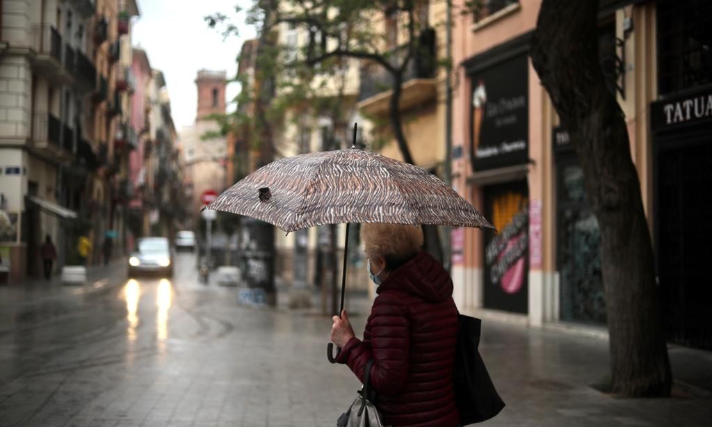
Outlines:
MULTIPOLYGON (((539 6, 492 2, 453 29, 454 187, 500 231, 452 231, 456 300, 533 326, 603 327, 597 220, 577 154, 528 57, 539 6)), ((699 347, 711 345, 698 326, 710 330, 701 307, 710 294, 694 272, 711 233, 691 218, 703 212, 699 199, 681 194, 709 188, 694 166, 709 160, 701 135, 712 83, 703 46, 711 38, 698 18, 708 7, 602 1, 599 12, 601 65, 626 115, 669 339, 699 347)))

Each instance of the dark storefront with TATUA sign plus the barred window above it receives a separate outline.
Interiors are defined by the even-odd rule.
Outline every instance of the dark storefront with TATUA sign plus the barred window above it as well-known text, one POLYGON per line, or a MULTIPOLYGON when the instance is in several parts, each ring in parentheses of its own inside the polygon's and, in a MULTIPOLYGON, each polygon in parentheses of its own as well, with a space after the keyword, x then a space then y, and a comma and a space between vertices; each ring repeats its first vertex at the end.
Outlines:
POLYGON ((650 104, 654 242, 667 338, 712 349, 712 3, 658 1, 650 104))

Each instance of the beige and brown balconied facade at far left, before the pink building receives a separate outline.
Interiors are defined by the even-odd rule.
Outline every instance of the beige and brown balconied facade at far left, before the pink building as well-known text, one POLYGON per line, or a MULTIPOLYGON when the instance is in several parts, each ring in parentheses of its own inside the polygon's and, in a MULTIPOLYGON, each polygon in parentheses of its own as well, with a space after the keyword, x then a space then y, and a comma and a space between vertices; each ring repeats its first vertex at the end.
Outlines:
POLYGON ((78 235, 88 233, 98 248, 110 229, 105 171, 118 120, 110 46, 130 31, 138 10, 133 1, 108 0, 3 6, 0 209, 12 226, 0 237, 0 256, 9 260, 11 279, 21 280, 38 275, 45 236, 56 243, 61 266, 75 261, 78 235))

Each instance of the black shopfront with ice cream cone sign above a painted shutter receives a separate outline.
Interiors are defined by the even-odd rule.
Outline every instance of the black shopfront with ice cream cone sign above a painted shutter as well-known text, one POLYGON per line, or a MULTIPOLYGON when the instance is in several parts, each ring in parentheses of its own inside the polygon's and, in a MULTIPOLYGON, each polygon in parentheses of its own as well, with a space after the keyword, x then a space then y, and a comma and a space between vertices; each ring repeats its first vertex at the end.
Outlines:
POLYGON ((465 64, 471 83, 468 184, 481 191, 484 214, 483 307, 528 312, 529 163, 528 36, 465 64))

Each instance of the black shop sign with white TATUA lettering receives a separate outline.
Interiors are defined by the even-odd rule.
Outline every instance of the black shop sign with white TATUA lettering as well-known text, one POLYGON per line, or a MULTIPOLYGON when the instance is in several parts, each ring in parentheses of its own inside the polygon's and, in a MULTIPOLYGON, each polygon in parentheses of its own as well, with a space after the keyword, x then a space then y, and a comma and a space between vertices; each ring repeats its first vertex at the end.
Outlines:
POLYGON ((650 105, 654 132, 712 120, 712 92, 671 97, 650 105))

